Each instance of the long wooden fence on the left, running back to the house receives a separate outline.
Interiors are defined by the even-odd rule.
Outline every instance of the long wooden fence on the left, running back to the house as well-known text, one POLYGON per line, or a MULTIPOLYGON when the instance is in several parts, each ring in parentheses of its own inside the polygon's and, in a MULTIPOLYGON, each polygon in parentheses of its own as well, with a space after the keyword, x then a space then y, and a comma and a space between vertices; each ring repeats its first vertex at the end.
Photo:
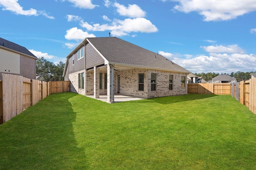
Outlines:
POLYGON ((30 80, 22 76, 2 74, 2 80, 0 80, 0 124, 49 96, 51 84, 64 84, 59 91, 54 90, 54 93, 70 91, 69 81, 44 82, 30 80))

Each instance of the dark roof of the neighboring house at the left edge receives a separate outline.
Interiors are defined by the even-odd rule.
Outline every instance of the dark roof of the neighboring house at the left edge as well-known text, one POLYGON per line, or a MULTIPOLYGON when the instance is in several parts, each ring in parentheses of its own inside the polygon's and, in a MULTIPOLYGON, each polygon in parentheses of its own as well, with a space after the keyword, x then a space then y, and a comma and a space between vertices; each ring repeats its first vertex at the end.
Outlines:
POLYGON ((30 51, 28 51, 28 49, 26 49, 25 47, 22 47, 16 43, 12 43, 11 41, 8 41, 8 40, 0 37, 0 48, 1 47, 11 49, 11 50, 17 51, 19 53, 23 53, 25 55, 29 55, 31 57, 37 58, 34 54, 32 54, 30 51))

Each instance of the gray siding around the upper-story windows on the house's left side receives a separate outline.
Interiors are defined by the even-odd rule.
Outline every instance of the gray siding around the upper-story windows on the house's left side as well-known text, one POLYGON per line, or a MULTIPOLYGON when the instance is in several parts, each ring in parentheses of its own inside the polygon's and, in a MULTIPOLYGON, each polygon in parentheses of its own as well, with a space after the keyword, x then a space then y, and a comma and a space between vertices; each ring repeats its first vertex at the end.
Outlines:
POLYGON ((75 53, 75 64, 74 65, 73 65, 73 62, 72 62, 72 56, 68 59, 69 74, 71 74, 73 72, 78 72, 80 70, 84 70, 84 59, 85 59, 85 57, 83 57, 80 60, 78 60, 77 57, 78 57, 78 54, 77 54, 77 51, 76 51, 76 53, 75 53))

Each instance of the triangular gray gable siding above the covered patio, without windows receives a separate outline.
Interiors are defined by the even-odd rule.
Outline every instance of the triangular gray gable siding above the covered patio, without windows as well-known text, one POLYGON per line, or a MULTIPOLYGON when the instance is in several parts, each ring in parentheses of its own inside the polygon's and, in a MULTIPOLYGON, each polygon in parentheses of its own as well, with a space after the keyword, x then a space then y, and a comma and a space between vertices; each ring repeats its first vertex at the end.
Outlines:
POLYGON ((99 53, 90 45, 86 44, 86 69, 92 68, 104 64, 104 59, 99 55, 99 53))

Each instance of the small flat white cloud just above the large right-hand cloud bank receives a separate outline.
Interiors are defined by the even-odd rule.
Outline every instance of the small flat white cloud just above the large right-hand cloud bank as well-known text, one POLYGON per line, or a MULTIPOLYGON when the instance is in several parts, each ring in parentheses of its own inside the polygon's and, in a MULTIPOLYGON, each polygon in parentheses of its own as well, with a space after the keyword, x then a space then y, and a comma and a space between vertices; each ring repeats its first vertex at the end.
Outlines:
POLYGON ((208 53, 238 53, 244 54, 244 50, 242 50, 238 45, 210 45, 210 46, 201 46, 204 51, 208 53))

